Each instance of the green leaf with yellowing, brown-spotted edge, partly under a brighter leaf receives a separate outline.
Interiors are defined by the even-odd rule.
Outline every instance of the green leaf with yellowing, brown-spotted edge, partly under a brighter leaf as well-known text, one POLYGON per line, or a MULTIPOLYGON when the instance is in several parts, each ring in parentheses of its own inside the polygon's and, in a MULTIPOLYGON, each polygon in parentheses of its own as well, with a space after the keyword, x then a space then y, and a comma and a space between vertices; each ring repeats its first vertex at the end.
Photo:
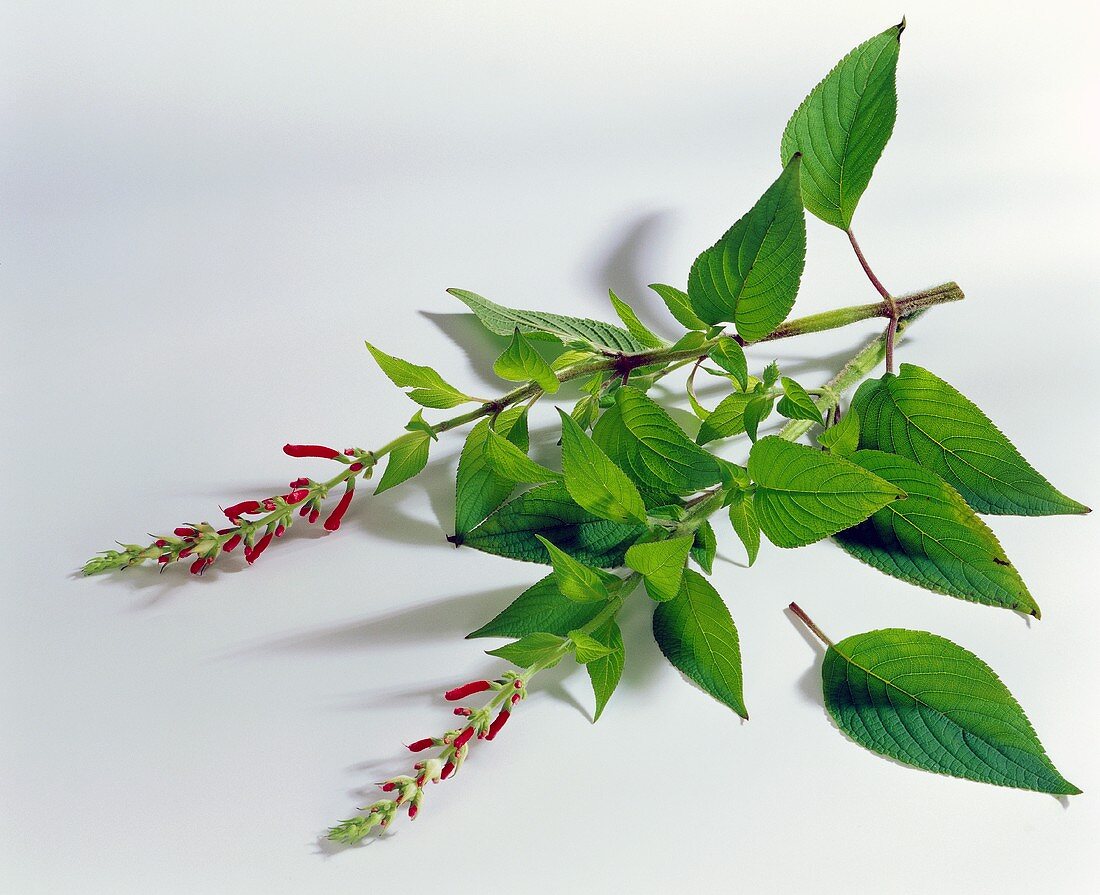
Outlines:
POLYGON ((919 587, 1040 617, 997 535, 950 485, 895 454, 857 451, 851 461, 909 496, 838 533, 848 553, 919 587))

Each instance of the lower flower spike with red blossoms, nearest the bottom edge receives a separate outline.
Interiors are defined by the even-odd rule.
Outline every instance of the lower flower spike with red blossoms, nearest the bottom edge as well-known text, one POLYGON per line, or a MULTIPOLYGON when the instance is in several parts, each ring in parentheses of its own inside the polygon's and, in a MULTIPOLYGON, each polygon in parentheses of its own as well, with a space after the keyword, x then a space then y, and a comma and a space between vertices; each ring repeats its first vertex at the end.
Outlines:
POLYGON ((492 692, 493 697, 481 708, 459 706, 454 714, 465 718, 462 727, 448 730, 441 737, 426 737, 408 745, 410 752, 440 750, 429 759, 421 759, 413 765, 413 774, 402 774, 378 784, 388 798, 378 799, 363 808, 364 814, 344 820, 329 830, 329 839, 354 846, 372 830, 386 829, 405 807, 409 819, 420 811, 425 792, 429 783, 439 783, 458 774, 470 754, 473 740, 493 740, 512 717, 515 706, 527 698, 528 673, 506 672, 497 681, 471 681, 461 687, 448 690, 444 698, 450 701, 465 699, 477 693, 492 692))

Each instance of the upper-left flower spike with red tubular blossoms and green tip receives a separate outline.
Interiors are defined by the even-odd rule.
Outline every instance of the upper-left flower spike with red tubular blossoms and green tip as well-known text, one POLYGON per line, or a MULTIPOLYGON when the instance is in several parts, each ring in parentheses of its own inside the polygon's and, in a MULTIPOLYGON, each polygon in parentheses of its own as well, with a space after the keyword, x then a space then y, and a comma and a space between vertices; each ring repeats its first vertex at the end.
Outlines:
POLYGON ((160 563, 163 568, 170 563, 189 561, 191 574, 201 575, 219 556, 239 546, 244 548, 244 561, 251 565, 272 541, 286 533, 295 515, 309 523, 317 522, 330 491, 343 485, 340 499, 323 522, 327 531, 336 531, 351 505, 356 479, 360 476, 370 478, 374 454, 359 448, 341 452, 323 444, 286 444, 283 452, 297 458, 336 461, 343 468, 327 482, 300 477, 289 484, 285 494, 226 507, 222 512, 229 524, 224 528, 209 522, 187 522, 172 534, 150 535, 154 538, 150 544, 120 544, 121 550, 106 550, 85 564, 84 574, 129 568, 145 562, 160 563))

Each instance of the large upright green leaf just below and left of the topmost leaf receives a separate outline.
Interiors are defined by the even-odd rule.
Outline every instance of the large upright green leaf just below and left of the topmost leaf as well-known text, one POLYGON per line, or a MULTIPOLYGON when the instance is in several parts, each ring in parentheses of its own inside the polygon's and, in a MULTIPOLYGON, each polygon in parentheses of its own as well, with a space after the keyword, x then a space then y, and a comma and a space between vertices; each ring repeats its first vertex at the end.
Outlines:
POLYGON ((743 339, 757 342, 791 312, 805 261, 794 155, 752 209, 696 258, 688 276, 691 306, 707 323, 734 323, 743 339))

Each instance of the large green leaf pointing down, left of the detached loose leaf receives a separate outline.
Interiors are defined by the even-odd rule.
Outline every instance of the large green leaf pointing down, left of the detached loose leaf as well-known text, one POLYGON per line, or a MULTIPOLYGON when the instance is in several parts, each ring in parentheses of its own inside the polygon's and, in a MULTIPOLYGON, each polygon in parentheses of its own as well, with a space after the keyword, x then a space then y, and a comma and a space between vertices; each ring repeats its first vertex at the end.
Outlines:
POLYGON ((684 572, 675 599, 653 611, 653 638, 664 658, 743 718, 741 648, 729 609, 711 583, 693 570, 684 572))

